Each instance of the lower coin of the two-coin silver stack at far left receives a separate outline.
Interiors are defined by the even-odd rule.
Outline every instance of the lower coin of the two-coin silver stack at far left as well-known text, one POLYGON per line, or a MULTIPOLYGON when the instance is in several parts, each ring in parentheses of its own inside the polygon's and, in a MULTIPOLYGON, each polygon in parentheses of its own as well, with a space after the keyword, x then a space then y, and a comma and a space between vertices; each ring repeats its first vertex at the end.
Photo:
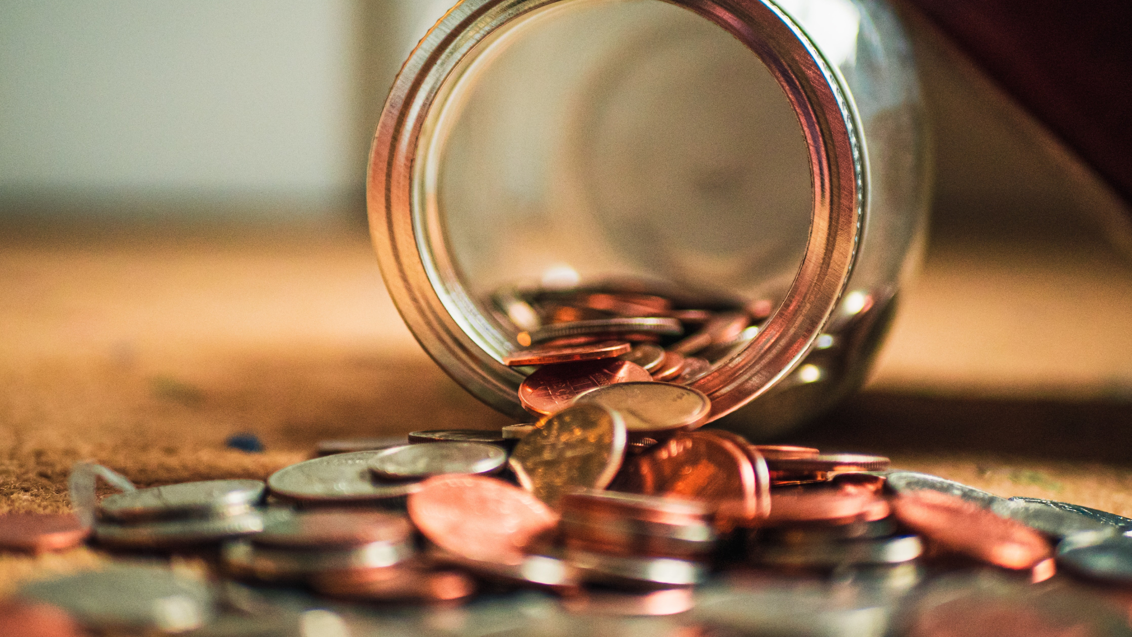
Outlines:
POLYGON ((162 549, 207 544, 264 530, 264 516, 249 511, 214 519, 162 520, 138 524, 96 523, 94 536, 110 546, 162 549))

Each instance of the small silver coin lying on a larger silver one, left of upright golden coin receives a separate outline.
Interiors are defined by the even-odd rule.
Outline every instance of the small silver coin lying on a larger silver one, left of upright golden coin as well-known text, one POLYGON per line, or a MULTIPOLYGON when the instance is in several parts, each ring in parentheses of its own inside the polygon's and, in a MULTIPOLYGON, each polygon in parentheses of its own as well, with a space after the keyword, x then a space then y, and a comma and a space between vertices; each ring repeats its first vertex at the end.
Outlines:
POLYGON ((507 452, 482 442, 405 444, 378 451, 369 460, 374 475, 391 479, 423 478, 444 474, 494 474, 507 452))

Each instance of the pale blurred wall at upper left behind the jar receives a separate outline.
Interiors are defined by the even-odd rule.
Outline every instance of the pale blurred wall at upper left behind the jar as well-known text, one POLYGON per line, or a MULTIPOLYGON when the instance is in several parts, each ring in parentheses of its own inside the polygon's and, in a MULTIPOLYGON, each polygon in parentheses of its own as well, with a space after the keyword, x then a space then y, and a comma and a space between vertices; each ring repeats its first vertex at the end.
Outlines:
POLYGON ((449 2, 0 0, 0 214, 337 205, 449 2))

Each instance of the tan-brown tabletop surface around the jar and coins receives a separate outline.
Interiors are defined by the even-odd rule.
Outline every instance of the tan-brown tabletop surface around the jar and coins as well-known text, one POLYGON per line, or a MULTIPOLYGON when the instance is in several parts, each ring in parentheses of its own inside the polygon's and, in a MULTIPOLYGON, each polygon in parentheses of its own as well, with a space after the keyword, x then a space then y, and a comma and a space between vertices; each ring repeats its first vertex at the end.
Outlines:
MULTIPOLYGON (((359 228, 0 236, 0 511, 66 510, 80 459, 265 478, 324 439, 509 423, 421 351, 359 228)), ((788 440, 1132 516, 1130 324, 1103 248, 937 244, 867 390, 788 440)), ((0 588, 102 559, 5 554, 0 588)))

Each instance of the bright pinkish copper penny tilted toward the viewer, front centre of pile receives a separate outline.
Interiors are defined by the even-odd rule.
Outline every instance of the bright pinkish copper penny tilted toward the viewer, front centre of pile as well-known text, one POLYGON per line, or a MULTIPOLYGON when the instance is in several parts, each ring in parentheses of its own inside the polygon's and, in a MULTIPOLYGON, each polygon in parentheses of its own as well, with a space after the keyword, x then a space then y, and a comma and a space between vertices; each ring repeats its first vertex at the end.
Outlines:
POLYGON ((555 528, 558 513, 503 481, 446 475, 409 496, 409 517, 437 546, 471 560, 517 564, 523 551, 555 528))

